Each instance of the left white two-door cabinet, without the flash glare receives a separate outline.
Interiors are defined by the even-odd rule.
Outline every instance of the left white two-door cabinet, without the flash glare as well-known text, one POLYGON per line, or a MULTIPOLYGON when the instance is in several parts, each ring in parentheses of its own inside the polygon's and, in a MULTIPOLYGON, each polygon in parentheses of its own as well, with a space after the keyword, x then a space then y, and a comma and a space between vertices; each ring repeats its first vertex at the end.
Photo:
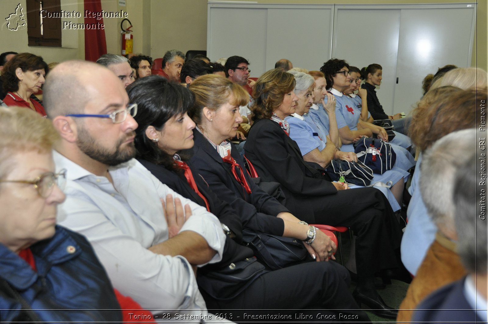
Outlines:
POLYGON ((208 3, 207 55, 239 55, 251 77, 288 59, 293 66, 319 69, 330 58, 333 4, 208 3))

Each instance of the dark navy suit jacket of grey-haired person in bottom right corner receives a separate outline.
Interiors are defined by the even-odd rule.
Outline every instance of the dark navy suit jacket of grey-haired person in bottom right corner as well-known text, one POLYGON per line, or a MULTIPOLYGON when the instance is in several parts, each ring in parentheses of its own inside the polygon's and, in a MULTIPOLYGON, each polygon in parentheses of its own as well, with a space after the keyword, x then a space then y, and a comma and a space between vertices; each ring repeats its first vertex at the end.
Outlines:
POLYGON ((417 306, 411 323, 483 323, 466 300, 465 280, 466 277, 445 285, 427 296, 417 306))

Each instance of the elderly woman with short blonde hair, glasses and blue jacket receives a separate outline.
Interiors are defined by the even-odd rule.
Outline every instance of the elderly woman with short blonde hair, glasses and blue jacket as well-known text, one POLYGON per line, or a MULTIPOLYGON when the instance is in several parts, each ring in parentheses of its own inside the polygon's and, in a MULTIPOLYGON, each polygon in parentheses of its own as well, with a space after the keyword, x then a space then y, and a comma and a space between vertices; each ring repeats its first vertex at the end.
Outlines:
POLYGON ((141 308, 114 293, 84 236, 56 225, 65 170, 54 173, 51 121, 0 107, 0 138, 0 321, 120 323, 118 299, 141 308))

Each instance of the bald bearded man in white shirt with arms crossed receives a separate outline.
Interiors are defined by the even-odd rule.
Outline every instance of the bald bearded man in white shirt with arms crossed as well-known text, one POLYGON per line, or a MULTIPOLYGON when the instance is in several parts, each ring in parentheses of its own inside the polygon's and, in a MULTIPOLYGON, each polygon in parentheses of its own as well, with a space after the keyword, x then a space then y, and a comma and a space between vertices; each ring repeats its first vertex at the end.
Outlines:
POLYGON ((199 322, 206 306, 196 265, 222 258, 218 219, 134 159, 137 105, 111 71, 63 62, 46 79, 44 102, 61 135, 56 168, 67 169, 58 222, 87 237, 122 294, 146 309, 174 309, 199 322))

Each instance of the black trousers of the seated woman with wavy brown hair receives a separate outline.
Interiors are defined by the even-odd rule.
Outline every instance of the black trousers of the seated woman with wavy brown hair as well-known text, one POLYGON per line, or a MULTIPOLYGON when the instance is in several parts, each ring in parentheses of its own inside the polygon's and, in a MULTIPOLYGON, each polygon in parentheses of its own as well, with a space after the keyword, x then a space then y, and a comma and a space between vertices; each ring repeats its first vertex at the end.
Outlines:
POLYGON ((356 237, 356 268, 360 277, 396 268, 402 230, 385 195, 375 188, 341 190, 336 195, 300 199, 311 206, 315 223, 347 226, 356 237))

